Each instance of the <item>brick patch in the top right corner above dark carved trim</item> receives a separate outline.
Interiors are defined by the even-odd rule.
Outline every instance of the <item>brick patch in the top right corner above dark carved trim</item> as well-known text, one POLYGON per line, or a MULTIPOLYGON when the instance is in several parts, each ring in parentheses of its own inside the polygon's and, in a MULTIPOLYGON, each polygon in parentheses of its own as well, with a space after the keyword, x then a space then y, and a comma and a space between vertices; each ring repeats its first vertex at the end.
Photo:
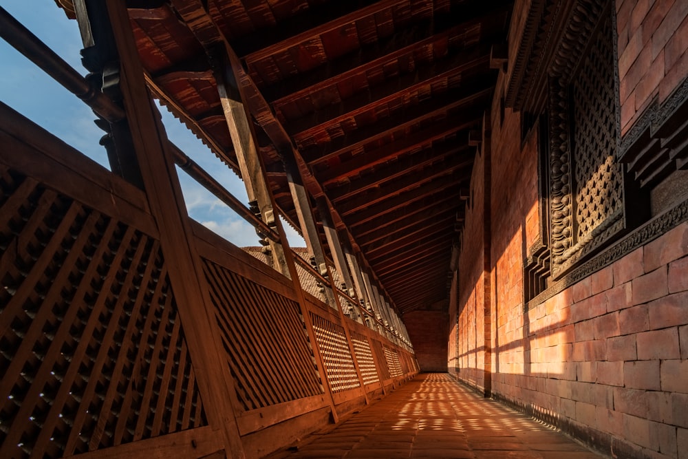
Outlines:
POLYGON ((616 0, 616 28, 625 134, 652 100, 662 103, 688 74, 688 1, 616 0))

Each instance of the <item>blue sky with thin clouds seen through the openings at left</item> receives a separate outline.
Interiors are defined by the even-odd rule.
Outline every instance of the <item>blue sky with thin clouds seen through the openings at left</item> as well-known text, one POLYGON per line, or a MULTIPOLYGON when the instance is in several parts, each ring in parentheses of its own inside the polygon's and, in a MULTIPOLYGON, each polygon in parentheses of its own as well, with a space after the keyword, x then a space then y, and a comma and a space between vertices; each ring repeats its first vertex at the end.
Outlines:
MULTIPOLYGON (((19 22, 23 23, 43 43, 72 65, 80 74, 86 71, 81 65, 79 51, 83 47, 76 21, 67 19, 54 0, 0 0, 19 22)), ((67 92, 39 67, 19 54, 0 39, 0 100, 19 113, 92 160, 107 166, 105 149, 98 145, 103 131, 94 124, 91 109, 76 96, 67 92)), ((195 160, 241 202, 247 202, 244 182, 222 164, 206 146, 188 131, 166 109, 160 109, 169 138, 195 160)), ((222 235, 237 246, 257 246, 254 229, 183 172, 180 182, 189 215, 204 226, 222 235)), ((303 239, 285 226, 290 244, 305 245, 303 239)))

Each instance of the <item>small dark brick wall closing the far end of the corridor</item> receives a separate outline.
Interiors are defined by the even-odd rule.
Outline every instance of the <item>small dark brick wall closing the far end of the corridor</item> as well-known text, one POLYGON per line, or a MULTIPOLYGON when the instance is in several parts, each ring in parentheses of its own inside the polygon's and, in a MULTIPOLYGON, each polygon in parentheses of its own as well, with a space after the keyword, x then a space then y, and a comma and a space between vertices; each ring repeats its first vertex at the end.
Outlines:
POLYGON ((415 310, 404 323, 422 372, 447 372, 449 314, 446 310, 415 310))

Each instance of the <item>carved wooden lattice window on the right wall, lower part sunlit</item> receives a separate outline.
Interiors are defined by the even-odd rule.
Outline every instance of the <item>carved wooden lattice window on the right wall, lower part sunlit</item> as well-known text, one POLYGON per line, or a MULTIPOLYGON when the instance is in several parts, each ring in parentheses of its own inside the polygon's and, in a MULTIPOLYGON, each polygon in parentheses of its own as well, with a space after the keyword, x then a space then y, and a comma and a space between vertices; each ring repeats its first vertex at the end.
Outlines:
MULTIPOLYGON (((603 2, 601 2, 603 3, 603 2)), ((610 8, 581 25, 570 59, 550 78, 550 269, 555 279, 624 228, 623 169, 616 164, 614 49, 610 8), (592 33, 594 30, 594 33, 592 33), (592 34, 589 41, 585 34, 592 34), (574 67, 577 51, 587 50, 574 67)), ((567 45, 567 48, 570 47, 567 45)))

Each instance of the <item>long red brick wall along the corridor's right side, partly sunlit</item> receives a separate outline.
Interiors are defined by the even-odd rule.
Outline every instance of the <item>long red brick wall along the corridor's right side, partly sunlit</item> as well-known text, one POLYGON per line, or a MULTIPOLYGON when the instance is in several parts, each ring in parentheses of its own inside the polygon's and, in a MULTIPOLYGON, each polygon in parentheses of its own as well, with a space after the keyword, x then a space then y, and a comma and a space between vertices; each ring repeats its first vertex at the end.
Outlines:
MULTIPOLYGON (((618 0, 616 9, 625 133, 688 75, 688 1, 618 0)), ((688 457, 688 223, 557 295, 524 304, 524 259, 541 236, 539 138, 522 140, 520 114, 500 106, 505 81, 500 74, 492 107, 489 211, 481 216, 474 200, 466 213, 454 283, 455 376, 475 387, 491 376, 493 397, 614 457, 688 457), (489 315, 481 322, 486 285, 489 315), (488 366, 479 354, 486 338, 488 366)), ((471 186, 477 200, 480 161, 471 186)))

